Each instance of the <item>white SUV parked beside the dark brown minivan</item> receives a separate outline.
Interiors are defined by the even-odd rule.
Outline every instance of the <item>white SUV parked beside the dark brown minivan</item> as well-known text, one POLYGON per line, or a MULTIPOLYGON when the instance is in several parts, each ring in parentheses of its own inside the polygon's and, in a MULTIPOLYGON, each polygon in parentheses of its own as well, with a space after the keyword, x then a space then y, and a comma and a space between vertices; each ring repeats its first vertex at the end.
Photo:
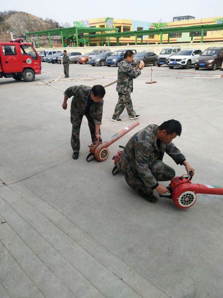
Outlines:
POLYGON ((194 65, 197 58, 202 54, 201 49, 183 49, 176 55, 171 56, 168 61, 168 66, 173 69, 175 66, 181 66, 185 69, 190 69, 194 65))

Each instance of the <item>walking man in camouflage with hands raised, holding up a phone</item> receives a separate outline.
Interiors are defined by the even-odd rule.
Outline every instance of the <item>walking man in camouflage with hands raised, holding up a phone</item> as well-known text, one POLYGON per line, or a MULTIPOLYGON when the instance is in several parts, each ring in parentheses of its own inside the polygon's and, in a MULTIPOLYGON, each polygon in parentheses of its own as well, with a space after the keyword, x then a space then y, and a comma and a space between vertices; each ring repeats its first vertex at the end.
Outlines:
POLYGON ((133 61, 134 53, 131 50, 125 52, 124 60, 118 66, 118 81, 116 91, 118 92, 118 102, 114 109, 112 121, 120 122, 120 115, 126 108, 131 120, 139 118, 132 106, 131 92, 133 91, 133 79, 141 75, 141 70, 145 66, 144 62, 139 64, 139 68, 134 70, 130 63, 133 61))

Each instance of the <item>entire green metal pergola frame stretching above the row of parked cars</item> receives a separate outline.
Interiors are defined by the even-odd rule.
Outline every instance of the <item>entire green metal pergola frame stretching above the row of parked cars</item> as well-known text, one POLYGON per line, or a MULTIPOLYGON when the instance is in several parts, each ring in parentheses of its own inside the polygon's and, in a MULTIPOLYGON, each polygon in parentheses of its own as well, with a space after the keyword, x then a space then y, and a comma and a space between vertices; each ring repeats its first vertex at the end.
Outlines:
POLYGON ((155 30, 140 30, 140 31, 128 31, 128 32, 117 32, 117 28, 92 28, 92 27, 69 27, 69 28, 62 28, 62 29, 51 29, 51 30, 43 30, 43 31, 35 31, 35 32, 28 32, 26 33, 26 41, 28 42, 29 35, 36 35, 37 36, 37 43, 38 47, 40 46, 39 43, 39 35, 48 35, 49 36, 49 43, 51 45, 51 38, 50 36, 53 34, 61 35, 62 39, 62 46, 64 47, 64 40, 63 35, 68 34, 76 34, 76 44, 78 46, 78 34, 80 33, 87 33, 84 35, 84 45, 86 45, 86 38, 101 38, 103 42, 103 38, 108 39, 108 46, 110 46, 110 37, 114 37, 117 40, 117 46, 119 46, 119 38, 125 36, 135 36, 135 44, 137 45, 138 36, 141 36, 141 44, 143 41, 143 35, 160 35, 160 44, 162 44, 163 34, 168 34, 168 41, 169 44, 169 34, 170 33, 183 33, 183 32, 191 32, 191 41, 193 40, 193 33, 197 31, 201 31, 201 40, 203 42, 204 32, 205 31, 217 31, 223 30, 223 24, 211 24, 211 25, 198 25, 198 26, 185 26, 185 27, 172 27, 172 28, 163 28, 163 29, 155 29, 155 30), (116 31, 112 33, 102 33, 103 31, 116 31), (89 34, 90 32, 101 32, 100 34, 89 34))

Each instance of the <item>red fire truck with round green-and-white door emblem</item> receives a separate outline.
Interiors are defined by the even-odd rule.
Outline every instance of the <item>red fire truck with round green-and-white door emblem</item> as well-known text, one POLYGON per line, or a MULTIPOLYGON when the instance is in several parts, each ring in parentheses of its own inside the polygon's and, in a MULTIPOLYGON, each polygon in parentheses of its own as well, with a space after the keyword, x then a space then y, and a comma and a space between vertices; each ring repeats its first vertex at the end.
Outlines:
POLYGON ((32 82, 41 74, 41 58, 31 44, 22 38, 0 43, 0 78, 13 77, 15 80, 32 82))

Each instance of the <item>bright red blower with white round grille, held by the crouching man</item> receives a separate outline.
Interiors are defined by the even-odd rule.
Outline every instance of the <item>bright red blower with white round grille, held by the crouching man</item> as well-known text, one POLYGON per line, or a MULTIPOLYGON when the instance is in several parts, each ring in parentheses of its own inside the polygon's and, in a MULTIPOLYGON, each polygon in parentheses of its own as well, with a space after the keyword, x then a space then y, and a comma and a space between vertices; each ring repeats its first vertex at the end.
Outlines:
POLYGON ((190 176, 175 177, 171 180, 167 189, 170 191, 170 195, 159 195, 160 197, 170 198, 179 208, 189 208, 196 202, 197 193, 205 193, 208 195, 223 195, 223 187, 215 185, 205 184, 193 184, 191 179, 193 173, 189 173, 190 176))

